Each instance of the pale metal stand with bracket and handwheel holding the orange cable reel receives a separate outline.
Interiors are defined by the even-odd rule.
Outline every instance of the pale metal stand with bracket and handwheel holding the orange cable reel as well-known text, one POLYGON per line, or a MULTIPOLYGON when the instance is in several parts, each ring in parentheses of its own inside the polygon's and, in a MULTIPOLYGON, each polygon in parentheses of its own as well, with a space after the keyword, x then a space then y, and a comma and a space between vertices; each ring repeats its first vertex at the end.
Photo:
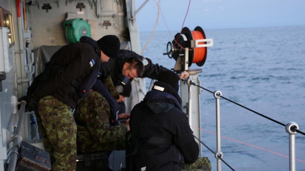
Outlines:
MULTIPOLYGON (((183 71, 187 71, 190 74, 191 80, 194 83, 200 85, 198 74, 202 72, 202 69, 189 68, 189 66, 191 66, 192 63, 192 61, 189 61, 189 49, 193 49, 195 47, 196 48, 211 47, 213 46, 213 40, 212 39, 188 40, 185 34, 180 34, 179 38, 182 39, 181 43, 183 43, 184 48, 182 48, 181 45, 178 47, 176 46, 177 48, 174 48, 172 42, 168 42, 167 53, 163 53, 163 55, 168 55, 169 58, 172 58, 173 56, 174 58, 176 57, 176 64, 173 70, 178 74, 182 73, 183 71), (210 42, 210 43, 199 44, 202 42, 210 42)), ((173 43, 175 42, 173 41, 173 43)), ((202 90, 199 87, 188 85, 187 82, 182 80, 180 81, 180 87, 181 87, 180 91, 181 91, 181 99, 182 99, 182 110, 188 116, 189 124, 191 126, 194 136, 196 136, 201 140, 200 94, 202 90)), ((199 156, 201 156, 201 143, 198 140, 196 140, 196 142, 199 144, 199 149, 200 149, 199 156)))

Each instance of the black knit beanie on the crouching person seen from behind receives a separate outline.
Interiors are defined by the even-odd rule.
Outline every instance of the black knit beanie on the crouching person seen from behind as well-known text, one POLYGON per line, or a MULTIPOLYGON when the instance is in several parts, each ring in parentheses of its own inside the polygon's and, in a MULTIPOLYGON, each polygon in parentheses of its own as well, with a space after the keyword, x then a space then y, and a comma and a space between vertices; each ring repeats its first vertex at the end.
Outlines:
POLYGON ((162 71, 158 75, 157 80, 161 81, 163 83, 169 84, 171 87, 173 87, 178 92, 180 77, 173 71, 170 71, 170 70, 162 71))

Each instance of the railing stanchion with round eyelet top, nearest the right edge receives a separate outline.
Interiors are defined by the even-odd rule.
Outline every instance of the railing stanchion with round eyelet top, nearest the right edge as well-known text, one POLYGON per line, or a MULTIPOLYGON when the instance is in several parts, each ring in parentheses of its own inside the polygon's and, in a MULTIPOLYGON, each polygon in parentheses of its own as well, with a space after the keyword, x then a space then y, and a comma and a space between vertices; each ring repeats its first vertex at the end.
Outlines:
POLYGON ((295 122, 289 122, 285 126, 286 132, 289 134, 289 171, 296 171, 296 130, 299 125, 295 122))

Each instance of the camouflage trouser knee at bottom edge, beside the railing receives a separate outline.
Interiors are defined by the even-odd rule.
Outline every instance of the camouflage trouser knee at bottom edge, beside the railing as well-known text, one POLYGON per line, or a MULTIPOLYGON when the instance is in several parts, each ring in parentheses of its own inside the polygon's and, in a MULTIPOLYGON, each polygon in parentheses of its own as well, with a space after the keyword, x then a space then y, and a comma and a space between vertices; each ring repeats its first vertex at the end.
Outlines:
POLYGON ((199 157, 194 163, 185 164, 181 171, 211 171, 211 162, 207 157, 199 157))

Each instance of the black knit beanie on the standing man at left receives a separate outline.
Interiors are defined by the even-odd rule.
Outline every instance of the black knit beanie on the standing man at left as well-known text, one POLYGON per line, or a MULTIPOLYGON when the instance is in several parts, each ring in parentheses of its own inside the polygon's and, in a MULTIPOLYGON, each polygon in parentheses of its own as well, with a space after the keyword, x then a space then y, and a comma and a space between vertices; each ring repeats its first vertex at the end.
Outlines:
POLYGON ((107 35, 96 41, 100 50, 110 58, 116 58, 120 50, 120 40, 115 35, 107 35))

